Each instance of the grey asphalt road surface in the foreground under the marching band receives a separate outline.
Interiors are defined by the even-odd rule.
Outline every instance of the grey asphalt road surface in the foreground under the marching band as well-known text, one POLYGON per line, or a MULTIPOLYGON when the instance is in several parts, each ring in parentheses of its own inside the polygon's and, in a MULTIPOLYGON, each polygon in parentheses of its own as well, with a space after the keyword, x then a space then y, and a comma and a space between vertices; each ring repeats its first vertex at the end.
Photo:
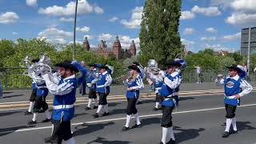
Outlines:
MULTIPOLYGON (((222 138, 225 130, 225 110, 222 95, 189 96, 181 98, 180 106, 173 114, 174 133, 181 144, 255 144, 256 143, 256 97, 255 93, 242 98, 237 109, 238 134, 222 138)), ((84 110, 79 105, 72 120, 72 129, 77 144, 158 144, 162 138, 161 111, 152 110, 153 100, 138 105, 142 128, 122 132, 126 122, 126 102, 110 103, 110 115, 93 118, 96 110, 84 110)), ((25 116, 25 110, 0 110, 1 144, 43 144, 43 138, 50 136, 51 124, 38 123, 27 126, 32 116, 25 116)), ((44 119, 40 114, 38 122, 44 119)), ((134 124, 134 120, 131 121, 134 124)))

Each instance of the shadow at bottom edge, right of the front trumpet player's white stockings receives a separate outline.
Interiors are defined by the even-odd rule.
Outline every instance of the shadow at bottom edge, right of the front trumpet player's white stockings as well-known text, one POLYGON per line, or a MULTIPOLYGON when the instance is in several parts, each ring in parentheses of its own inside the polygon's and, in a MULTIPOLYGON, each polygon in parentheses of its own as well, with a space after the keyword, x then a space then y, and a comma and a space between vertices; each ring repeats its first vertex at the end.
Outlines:
POLYGON ((203 128, 199 129, 182 129, 179 126, 174 126, 174 130, 178 130, 178 133, 175 133, 176 143, 186 142, 187 140, 197 138, 200 134, 199 132, 205 130, 203 128))

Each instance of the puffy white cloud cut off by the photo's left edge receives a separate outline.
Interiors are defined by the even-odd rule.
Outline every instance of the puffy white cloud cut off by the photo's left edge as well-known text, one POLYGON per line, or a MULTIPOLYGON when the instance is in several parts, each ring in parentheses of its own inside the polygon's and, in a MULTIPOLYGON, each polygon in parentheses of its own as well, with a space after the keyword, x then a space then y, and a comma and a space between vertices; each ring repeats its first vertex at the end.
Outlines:
POLYGON ((8 23, 14 23, 17 22, 19 19, 18 14, 14 12, 6 12, 0 14, 0 23, 8 24, 8 23))

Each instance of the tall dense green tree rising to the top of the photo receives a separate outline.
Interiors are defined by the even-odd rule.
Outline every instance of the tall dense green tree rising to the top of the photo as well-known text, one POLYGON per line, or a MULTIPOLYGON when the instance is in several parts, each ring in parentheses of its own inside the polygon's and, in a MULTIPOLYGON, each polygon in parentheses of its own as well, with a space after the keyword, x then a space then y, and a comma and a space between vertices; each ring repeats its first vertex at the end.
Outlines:
POLYGON ((182 51, 178 33, 181 0, 147 0, 139 34, 141 53, 138 59, 146 64, 155 59, 160 66, 182 51))

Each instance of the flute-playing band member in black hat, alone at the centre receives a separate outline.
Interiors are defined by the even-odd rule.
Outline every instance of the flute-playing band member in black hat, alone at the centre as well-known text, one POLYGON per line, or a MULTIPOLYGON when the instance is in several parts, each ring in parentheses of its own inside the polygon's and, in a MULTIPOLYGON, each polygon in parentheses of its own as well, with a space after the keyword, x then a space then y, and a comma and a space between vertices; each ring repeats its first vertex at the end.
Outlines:
POLYGON ((138 110, 136 109, 136 102, 139 96, 139 90, 144 88, 142 78, 140 77, 140 70, 138 66, 132 65, 128 66, 130 69, 130 78, 126 79, 126 84, 128 86, 126 92, 127 98, 127 112, 126 112, 126 126, 122 128, 123 131, 129 130, 131 115, 135 115, 136 124, 132 128, 141 127, 141 122, 139 121, 138 110))

